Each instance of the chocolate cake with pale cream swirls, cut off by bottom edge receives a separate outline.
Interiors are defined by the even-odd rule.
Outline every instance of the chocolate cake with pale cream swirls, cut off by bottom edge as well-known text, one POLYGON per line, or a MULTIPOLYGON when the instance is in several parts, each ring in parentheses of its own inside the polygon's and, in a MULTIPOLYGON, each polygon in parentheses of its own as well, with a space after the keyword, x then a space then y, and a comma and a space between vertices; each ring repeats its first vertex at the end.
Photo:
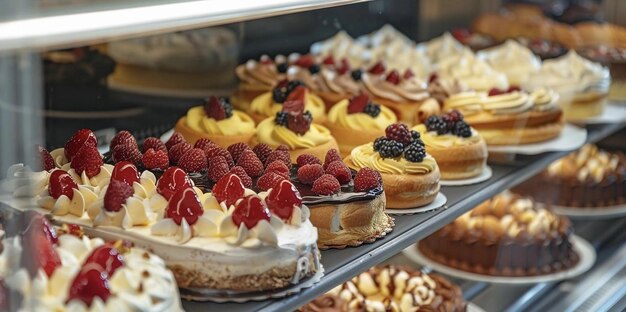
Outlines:
POLYGON ((299 311, 464 312, 466 307, 461 288, 443 276, 387 265, 355 276, 299 311))

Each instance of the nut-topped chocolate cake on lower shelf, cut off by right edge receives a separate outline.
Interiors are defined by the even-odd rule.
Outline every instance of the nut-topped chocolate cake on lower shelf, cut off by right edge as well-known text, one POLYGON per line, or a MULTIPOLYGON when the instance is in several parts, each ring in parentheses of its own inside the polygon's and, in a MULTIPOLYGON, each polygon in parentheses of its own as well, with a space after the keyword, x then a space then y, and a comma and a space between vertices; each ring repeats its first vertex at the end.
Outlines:
POLYGON ((587 144, 513 190, 565 207, 622 205, 626 203, 626 156, 587 144))

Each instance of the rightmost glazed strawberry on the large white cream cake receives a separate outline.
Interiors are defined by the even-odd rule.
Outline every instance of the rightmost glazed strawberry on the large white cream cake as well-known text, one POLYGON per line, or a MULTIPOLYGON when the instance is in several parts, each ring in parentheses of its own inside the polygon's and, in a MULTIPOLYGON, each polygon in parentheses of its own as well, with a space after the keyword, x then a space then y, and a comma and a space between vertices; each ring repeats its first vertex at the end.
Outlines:
POLYGON ((291 219, 294 206, 302 206, 302 196, 291 182, 282 180, 272 187, 265 202, 272 213, 287 221, 291 219))

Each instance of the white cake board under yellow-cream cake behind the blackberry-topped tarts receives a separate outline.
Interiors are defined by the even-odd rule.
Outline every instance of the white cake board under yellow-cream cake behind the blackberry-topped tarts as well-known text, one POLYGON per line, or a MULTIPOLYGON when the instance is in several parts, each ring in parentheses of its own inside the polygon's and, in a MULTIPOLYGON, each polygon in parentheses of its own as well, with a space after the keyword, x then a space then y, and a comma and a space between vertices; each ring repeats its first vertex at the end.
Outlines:
POLYGON ((573 151, 585 144, 587 130, 574 125, 565 124, 561 135, 539 143, 522 145, 491 145, 487 146, 489 152, 537 155, 545 152, 573 151))

